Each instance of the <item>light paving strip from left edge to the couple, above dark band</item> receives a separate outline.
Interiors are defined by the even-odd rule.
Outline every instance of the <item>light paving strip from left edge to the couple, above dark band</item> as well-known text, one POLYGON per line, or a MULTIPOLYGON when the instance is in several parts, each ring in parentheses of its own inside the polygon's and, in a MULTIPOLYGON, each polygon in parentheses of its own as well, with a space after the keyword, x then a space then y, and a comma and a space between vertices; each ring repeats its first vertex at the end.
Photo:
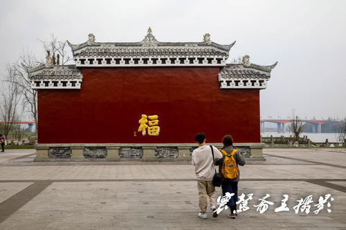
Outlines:
POLYGON ((0 180, 194 179, 190 165, 0 166, 0 180))

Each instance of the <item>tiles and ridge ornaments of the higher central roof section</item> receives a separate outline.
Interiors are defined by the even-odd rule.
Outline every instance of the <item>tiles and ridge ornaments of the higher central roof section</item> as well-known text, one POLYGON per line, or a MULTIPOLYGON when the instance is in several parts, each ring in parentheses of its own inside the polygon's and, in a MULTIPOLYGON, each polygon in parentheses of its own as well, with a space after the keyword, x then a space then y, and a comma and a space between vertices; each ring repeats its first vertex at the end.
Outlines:
MULTIPOLYGON (((208 34, 206 34, 208 35, 208 34)), ((220 45, 210 41, 209 37, 202 42, 161 42, 157 41, 149 28, 147 35, 138 42, 95 42, 95 36, 89 34, 89 40, 78 45, 71 44, 75 59, 97 57, 225 57, 235 44, 220 45)))

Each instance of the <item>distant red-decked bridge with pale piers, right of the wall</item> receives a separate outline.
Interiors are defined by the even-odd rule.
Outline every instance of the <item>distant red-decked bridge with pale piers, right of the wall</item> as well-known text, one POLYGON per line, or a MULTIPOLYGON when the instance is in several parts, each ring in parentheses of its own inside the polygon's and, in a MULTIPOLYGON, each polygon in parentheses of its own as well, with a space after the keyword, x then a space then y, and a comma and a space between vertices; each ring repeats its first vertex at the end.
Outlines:
MULTIPOLYGON (((339 121, 333 120, 318 120, 318 119, 300 119, 301 122, 312 124, 312 133, 321 133, 322 125, 339 124, 339 121)), ((261 119, 261 133, 265 130, 265 122, 277 124, 277 133, 286 133, 286 124, 291 124, 292 119, 261 119)))

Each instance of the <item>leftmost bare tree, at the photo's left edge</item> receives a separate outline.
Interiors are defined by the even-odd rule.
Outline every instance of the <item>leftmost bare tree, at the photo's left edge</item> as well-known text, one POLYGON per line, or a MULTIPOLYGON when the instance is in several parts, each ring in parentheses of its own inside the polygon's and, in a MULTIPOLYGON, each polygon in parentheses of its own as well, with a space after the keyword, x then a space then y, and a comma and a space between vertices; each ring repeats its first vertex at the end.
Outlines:
POLYGON ((19 89, 17 84, 14 83, 15 69, 12 66, 6 68, 6 85, 4 85, 3 92, 1 93, 2 102, 0 104, 0 116, 3 124, 3 135, 8 136, 14 123, 18 120, 18 104, 20 101, 19 89))

